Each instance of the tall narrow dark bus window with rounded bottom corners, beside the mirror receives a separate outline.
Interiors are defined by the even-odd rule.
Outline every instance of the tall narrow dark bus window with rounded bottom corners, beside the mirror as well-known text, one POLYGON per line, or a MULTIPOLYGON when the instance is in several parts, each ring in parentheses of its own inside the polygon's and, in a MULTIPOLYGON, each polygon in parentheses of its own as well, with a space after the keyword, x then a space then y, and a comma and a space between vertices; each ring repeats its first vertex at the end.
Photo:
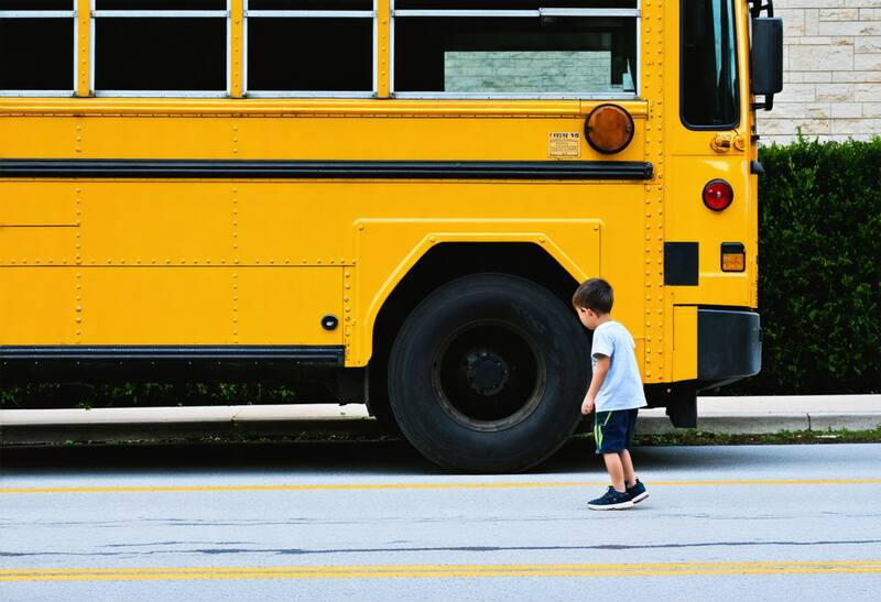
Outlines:
POLYGON ((732 0, 683 0, 682 121, 695 130, 727 130, 740 122, 732 0))

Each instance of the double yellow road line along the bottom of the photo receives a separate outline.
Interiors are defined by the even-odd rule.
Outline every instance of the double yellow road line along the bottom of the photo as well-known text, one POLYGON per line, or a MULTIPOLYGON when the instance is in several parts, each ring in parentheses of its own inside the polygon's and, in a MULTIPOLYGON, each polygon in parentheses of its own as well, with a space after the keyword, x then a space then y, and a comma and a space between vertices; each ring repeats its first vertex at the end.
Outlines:
POLYGON ((478 577, 661 577, 693 574, 881 573, 881 560, 569 565, 379 565, 0 570, 0 581, 193 579, 378 579, 478 577))

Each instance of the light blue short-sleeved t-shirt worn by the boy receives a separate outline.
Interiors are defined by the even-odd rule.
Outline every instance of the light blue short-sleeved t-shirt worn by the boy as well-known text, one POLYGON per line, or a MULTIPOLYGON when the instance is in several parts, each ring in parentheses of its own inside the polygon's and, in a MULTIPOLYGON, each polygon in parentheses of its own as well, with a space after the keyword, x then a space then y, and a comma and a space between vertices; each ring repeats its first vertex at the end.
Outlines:
POLYGON ((603 322, 594 330, 594 344, 590 348, 594 369, 597 368, 597 354, 608 355, 610 359, 609 372, 597 393, 597 412, 632 409, 646 405, 640 369, 633 352, 635 347, 627 328, 614 320, 603 322))

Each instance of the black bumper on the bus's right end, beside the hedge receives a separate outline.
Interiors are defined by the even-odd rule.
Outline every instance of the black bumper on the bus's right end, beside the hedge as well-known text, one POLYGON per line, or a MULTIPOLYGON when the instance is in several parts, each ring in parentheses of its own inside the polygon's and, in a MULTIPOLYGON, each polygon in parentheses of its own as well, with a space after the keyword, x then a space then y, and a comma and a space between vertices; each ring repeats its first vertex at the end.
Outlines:
POLYGON ((759 314, 731 309, 697 310, 699 388, 758 374, 762 368, 759 314))

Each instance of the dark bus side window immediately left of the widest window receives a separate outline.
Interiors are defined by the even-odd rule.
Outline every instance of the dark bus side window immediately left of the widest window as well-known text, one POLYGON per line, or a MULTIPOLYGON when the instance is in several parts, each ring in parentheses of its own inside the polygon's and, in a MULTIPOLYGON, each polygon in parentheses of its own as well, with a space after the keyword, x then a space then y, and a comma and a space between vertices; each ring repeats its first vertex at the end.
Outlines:
POLYGON ((372 0, 249 0, 248 96, 371 96, 373 28, 372 0))

